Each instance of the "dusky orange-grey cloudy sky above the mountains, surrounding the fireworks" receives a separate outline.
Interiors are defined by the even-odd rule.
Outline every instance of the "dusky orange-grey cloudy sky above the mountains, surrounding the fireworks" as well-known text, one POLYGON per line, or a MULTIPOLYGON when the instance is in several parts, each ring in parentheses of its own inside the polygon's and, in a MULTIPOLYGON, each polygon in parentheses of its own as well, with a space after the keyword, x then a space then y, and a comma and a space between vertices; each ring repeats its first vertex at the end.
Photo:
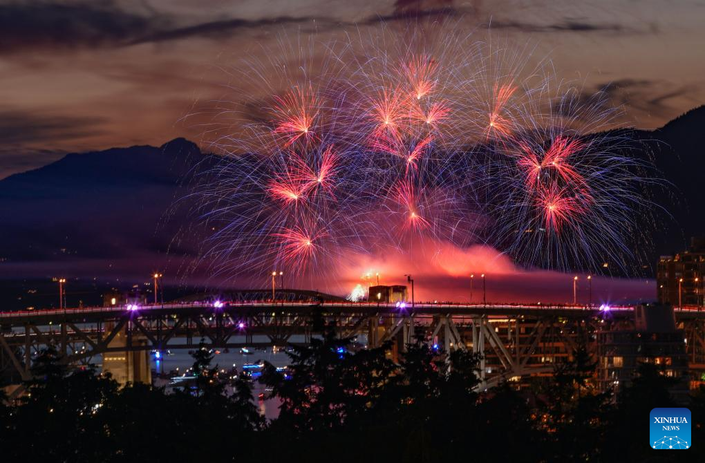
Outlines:
MULTIPOLYGON (((532 47, 558 77, 608 87, 624 125, 705 101, 698 1, 6 1, 0 5, 0 178, 83 152, 209 142, 197 117, 223 68, 278 38, 446 22, 532 47), (411 18, 411 19, 410 19, 411 18)), ((253 92, 256 91, 253 89, 253 92)))

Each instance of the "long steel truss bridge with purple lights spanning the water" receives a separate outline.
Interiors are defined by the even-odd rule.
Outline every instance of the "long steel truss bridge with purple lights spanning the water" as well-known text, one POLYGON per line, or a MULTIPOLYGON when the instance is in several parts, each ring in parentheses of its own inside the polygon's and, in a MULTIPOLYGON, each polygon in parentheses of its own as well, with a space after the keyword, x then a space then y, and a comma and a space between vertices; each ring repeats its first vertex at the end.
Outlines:
MULTIPOLYGON (((5 312, 0 313, 0 373, 16 383, 30 379, 33 359, 47 345, 56 346, 66 364, 89 364, 111 352, 192 349, 201 339, 221 349, 307 343, 318 313, 335 322, 343 337, 364 335, 369 347, 393 342, 393 357, 417 330, 447 351, 472 350, 481 356, 480 388, 489 388, 503 380, 550 375, 581 342, 594 347, 600 329, 632 328, 634 309, 233 300, 5 312)), ((688 339, 691 366, 704 366, 705 311, 684 307, 675 316, 688 339)))

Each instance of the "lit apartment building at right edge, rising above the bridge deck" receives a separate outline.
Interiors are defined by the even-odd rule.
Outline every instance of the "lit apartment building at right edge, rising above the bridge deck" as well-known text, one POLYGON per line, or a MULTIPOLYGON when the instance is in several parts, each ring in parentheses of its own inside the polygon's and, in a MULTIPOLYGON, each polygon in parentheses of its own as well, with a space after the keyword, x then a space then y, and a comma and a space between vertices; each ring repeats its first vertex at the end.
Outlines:
POLYGON ((661 304, 705 304, 705 237, 692 238, 684 252, 658 259, 656 288, 661 304))

